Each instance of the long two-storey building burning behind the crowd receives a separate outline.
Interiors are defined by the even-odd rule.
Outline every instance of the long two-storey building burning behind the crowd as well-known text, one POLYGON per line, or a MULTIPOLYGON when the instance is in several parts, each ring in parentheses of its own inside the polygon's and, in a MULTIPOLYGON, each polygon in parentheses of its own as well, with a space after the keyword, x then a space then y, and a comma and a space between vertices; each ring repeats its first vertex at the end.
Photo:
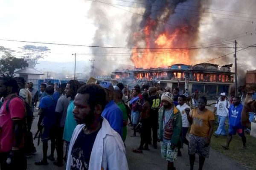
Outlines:
POLYGON ((211 63, 197 65, 174 64, 167 68, 135 68, 132 70, 116 70, 113 72, 116 79, 124 80, 154 80, 160 81, 160 88, 169 86, 172 89, 188 89, 190 92, 198 91, 211 95, 222 92, 230 94, 234 73, 230 65, 218 66, 211 63))

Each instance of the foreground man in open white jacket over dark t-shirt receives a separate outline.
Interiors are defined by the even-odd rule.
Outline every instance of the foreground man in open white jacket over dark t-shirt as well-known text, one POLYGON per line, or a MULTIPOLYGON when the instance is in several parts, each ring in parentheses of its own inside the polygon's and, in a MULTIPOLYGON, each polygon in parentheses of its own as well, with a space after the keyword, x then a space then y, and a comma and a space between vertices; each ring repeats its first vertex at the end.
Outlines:
POLYGON ((96 84, 79 88, 73 110, 78 125, 70 141, 66 170, 128 170, 122 138, 101 116, 105 95, 96 84))

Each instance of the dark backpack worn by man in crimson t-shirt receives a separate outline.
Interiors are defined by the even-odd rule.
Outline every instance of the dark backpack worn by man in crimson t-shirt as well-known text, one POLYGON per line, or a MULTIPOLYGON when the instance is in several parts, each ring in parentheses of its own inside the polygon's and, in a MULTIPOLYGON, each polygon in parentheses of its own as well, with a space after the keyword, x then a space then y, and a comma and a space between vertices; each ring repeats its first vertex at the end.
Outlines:
POLYGON ((26 102, 22 97, 20 96, 12 96, 6 103, 6 111, 9 112, 9 104, 11 102, 11 100, 15 97, 20 98, 23 101, 24 107, 25 107, 25 116, 23 119, 23 141, 24 141, 24 148, 26 149, 28 143, 29 143, 29 136, 31 135, 30 130, 31 130, 31 125, 32 125, 32 121, 33 121, 33 112, 31 110, 31 107, 29 105, 28 102, 26 102))

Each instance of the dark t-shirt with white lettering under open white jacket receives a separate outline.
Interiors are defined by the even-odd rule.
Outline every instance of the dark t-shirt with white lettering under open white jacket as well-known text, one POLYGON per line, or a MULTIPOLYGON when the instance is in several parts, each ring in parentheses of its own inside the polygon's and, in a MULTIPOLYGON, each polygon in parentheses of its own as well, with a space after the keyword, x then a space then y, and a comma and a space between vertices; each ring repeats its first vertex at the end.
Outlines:
POLYGON ((71 151, 70 170, 88 170, 90 154, 99 130, 89 135, 81 130, 71 151))

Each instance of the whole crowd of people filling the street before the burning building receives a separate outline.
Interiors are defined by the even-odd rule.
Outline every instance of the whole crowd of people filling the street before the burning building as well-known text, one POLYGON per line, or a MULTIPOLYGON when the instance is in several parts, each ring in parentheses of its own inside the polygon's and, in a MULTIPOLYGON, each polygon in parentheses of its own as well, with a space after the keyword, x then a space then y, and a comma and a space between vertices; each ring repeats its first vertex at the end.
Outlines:
POLYGON ((180 95, 179 88, 171 91, 166 86, 161 91, 159 85, 143 91, 136 85, 130 91, 122 83, 113 86, 107 81, 87 85, 77 80, 61 85, 44 82, 36 91, 33 83, 26 83, 23 77, 2 76, 0 97, 1 170, 26 170, 26 156, 36 152, 31 133, 36 107, 39 115, 36 135, 41 138, 43 158, 35 165, 48 165, 50 160, 62 167, 65 160, 66 170, 128 170, 127 126, 133 130, 131 137, 140 133, 141 141, 139 147, 132 149, 134 153, 150 150, 150 144, 157 149, 160 142, 160 153, 168 163, 168 170, 175 170, 174 161, 182 156, 181 148, 186 144, 190 169, 193 170, 198 154, 202 170, 209 156, 214 113, 218 116, 214 136, 227 136, 222 147, 229 149, 236 133, 246 147, 244 126, 248 121, 244 113, 252 112, 249 104, 243 106, 239 97, 228 99, 225 93, 221 93, 212 112, 206 108, 207 98, 199 96, 198 91, 190 95, 186 90, 180 95), (50 155, 47 155, 48 141, 50 155))

